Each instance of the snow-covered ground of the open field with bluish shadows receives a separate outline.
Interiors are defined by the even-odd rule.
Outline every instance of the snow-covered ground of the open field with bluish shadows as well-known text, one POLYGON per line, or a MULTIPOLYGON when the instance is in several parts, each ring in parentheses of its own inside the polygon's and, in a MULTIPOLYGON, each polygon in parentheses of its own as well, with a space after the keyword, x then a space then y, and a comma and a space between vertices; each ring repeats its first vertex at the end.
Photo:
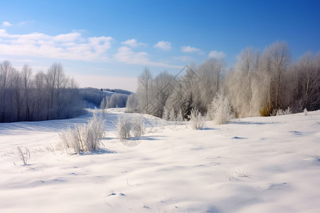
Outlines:
POLYGON ((194 131, 144 115, 148 133, 50 151, 76 119, 0 124, 0 212, 318 212, 320 111, 236 119, 194 131), (31 151, 23 165, 17 146, 31 151), (48 148, 48 149, 47 149, 48 148))

